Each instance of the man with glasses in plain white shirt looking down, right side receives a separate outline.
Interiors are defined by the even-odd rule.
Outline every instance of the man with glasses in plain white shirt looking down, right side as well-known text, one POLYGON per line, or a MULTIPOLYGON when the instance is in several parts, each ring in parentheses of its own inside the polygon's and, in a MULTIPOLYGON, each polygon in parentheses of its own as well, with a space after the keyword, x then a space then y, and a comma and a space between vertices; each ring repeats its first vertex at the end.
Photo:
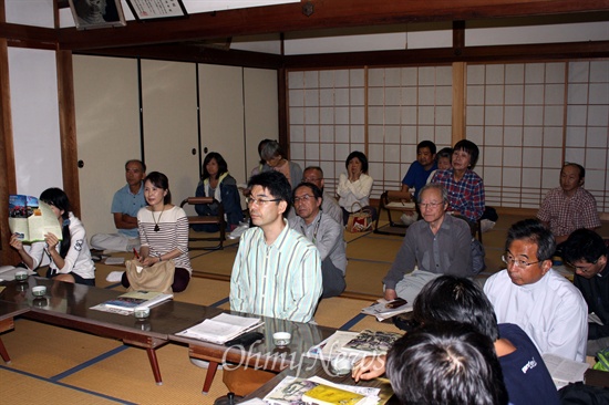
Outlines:
POLYGON ((579 290, 551 269, 551 232, 539 220, 525 219, 509 228, 505 248, 507 269, 484 284, 497 321, 520 326, 541 354, 584 362, 588 307, 579 290))

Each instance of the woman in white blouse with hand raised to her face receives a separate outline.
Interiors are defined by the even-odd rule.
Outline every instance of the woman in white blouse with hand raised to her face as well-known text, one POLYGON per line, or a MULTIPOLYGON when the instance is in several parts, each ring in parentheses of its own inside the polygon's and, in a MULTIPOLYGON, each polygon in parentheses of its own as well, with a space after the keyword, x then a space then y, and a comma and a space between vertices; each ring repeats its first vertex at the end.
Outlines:
POLYGON ((368 158, 359 150, 351 152, 344 162, 347 174, 339 178, 339 205, 342 208, 342 221, 347 225, 349 215, 365 209, 372 212, 372 219, 376 218, 376 209, 370 207, 370 193, 374 180, 367 175, 368 158), (358 204, 357 204, 358 202, 358 204))

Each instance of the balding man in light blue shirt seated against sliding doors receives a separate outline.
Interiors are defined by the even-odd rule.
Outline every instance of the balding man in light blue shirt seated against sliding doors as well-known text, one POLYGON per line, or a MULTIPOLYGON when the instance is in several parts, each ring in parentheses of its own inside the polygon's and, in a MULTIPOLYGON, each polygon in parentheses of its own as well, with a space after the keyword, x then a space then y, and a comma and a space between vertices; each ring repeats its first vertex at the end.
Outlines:
POLYGON ((127 184, 114 194, 112 215, 117 233, 96 233, 91 237, 91 248, 110 251, 131 251, 140 249, 137 211, 146 206, 144 185, 146 165, 132 159, 125 164, 127 184))

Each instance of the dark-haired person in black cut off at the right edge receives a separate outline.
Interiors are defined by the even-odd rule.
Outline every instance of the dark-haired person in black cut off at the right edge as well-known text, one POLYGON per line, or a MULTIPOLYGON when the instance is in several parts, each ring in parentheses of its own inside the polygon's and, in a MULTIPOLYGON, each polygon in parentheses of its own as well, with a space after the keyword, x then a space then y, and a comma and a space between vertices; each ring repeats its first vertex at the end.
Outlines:
POLYGON ((609 248, 590 229, 577 229, 565 242, 564 259, 575 270, 574 285, 588 304, 588 350, 593 356, 609 347, 609 248))

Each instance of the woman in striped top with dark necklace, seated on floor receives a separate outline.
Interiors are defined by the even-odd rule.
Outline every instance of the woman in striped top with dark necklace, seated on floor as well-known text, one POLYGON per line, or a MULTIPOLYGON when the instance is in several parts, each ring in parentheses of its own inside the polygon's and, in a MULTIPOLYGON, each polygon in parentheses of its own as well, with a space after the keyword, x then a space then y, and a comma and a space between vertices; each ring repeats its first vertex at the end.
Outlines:
MULTIPOLYGON (((163 260, 175 264, 173 292, 182 292, 190 281, 190 259, 188 258, 188 218, 184 209, 172 204, 169 180, 159 172, 153 172, 144 179, 144 194, 147 207, 137 212, 142 249, 140 262, 151 267, 163 260)), ((123 287, 131 285, 126 272, 121 280, 123 287)))

